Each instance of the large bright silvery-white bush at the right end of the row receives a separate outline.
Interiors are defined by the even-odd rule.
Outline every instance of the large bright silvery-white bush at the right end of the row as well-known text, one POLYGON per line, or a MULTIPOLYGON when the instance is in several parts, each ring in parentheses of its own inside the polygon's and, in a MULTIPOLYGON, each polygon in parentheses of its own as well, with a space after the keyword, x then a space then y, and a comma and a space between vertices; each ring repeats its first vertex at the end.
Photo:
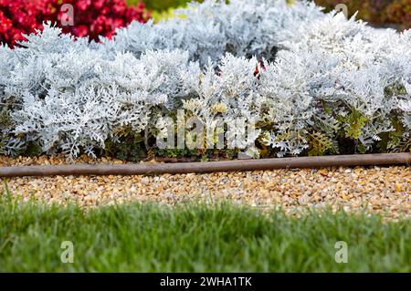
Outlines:
POLYGON ((409 31, 380 31, 332 13, 281 45, 285 49, 261 77, 261 92, 270 102, 268 119, 276 124, 268 141, 280 148, 279 155, 307 148, 308 130, 321 130, 333 139, 344 126, 337 118, 353 110, 367 120, 359 137, 366 148, 379 134, 394 130, 393 117, 403 121, 409 139, 409 31), (386 88, 398 85, 407 95, 386 94, 386 88), (279 139, 281 135, 287 139, 279 139))

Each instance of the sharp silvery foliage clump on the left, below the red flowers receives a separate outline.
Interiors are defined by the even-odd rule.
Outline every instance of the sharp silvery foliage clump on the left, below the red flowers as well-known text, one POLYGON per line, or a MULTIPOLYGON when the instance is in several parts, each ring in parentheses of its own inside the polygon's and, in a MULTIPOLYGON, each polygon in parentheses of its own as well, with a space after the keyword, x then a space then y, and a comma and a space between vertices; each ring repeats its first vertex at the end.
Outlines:
POLYGON ((153 106, 171 107, 184 93, 187 53, 147 51, 140 58, 130 53, 109 58, 86 40, 73 42, 60 33, 46 26, 28 36, 26 48, 15 51, 19 61, 5 87, 5 95, 20 103, 12 114, 15 132, 36 140, 45 152, 94 155, 94 148, 116 138, 113 132, 144 130, 153 106))

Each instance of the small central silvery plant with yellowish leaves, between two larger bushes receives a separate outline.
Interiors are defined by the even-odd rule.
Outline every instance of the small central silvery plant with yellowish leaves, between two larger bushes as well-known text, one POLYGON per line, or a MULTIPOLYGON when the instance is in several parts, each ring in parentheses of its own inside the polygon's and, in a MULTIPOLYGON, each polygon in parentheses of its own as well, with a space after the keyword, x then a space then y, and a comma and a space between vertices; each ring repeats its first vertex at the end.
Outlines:
POLYGON ((184 78, 184 86, 193 98, 184 100, 183 108, 198 118, 205 129, 227 125, 226 140, 230 143, 227 146, 248 149, 251 156, 258 154, 254 144, 260 130, 255 130, 254 125, 265 104, 258 93, 259 71, 261 66, 256 57, 247 59, 227 53, 218 66, 210 60, 204 70, 184 78), (236 138, 241 136, 245 138, 236 138))

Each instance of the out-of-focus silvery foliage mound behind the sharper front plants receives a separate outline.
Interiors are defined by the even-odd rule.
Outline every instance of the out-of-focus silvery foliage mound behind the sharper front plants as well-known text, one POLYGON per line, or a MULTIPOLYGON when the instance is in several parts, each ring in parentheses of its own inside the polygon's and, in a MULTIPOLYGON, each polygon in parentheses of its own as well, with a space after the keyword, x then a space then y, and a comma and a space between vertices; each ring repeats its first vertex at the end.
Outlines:
POLYGON ((312 3, 289 5, 286 0, 206 0, 176 14, 158 24, 133 22, 118 29, 112 41, 102 39, 102 48, 109 53, 130 51, 136 57, 148 49, 182 49, 201 65, 209 58, 217 63, 226 52, 272 60, 281 41, 323 16, 312 3))

